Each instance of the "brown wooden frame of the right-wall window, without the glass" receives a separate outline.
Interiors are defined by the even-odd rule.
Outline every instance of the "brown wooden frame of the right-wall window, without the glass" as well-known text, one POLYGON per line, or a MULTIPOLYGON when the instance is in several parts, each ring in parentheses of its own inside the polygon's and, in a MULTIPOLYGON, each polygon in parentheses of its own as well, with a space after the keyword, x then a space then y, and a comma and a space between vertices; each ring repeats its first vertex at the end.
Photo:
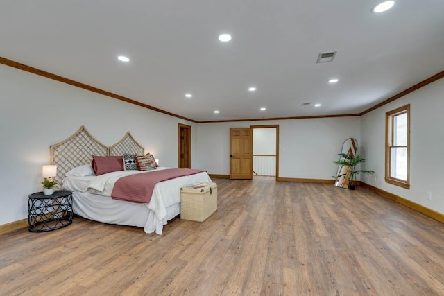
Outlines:
POLYGON ((410 104, 386 112, 386 183, 410 189, 410 104), (393 146, 393 121, 395 116, 407 114, 407 146, 393 146), (407 148, 407 180, 391 177, 391 148, 407 148))

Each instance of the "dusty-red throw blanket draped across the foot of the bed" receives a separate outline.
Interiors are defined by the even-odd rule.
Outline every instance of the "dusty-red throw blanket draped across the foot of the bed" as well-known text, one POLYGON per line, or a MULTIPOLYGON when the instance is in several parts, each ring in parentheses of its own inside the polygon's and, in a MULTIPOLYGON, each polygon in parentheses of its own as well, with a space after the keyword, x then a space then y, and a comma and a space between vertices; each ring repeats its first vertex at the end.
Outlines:
POLYGON ((121 177, 114 184, 111 197, 114 200, 148 203, 151 200, 151 195, 153 195, 154 186, 158 182, 202 172, 205 171, 191 168, 169 168, 167 170, 151 171, 121 177))

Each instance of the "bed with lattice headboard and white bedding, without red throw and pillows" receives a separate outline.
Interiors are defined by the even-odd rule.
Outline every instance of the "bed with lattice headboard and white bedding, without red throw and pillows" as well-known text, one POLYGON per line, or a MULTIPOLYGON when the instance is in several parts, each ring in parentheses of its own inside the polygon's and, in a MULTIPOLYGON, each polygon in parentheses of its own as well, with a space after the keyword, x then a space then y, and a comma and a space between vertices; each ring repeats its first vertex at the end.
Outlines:
POLYGON ((119 171, 101 176, 89 172, 92 155, 109 157, 124 153, 145 155, 143 146, 133 139, 130 132, 114 145, 105 146, 92 137, 84 126, 65 141, 50 147, 51 164, 58 168, 56 180, 61 183, 62 189, 73 192, 74 214, 102 223, 143 227, 148 234, 162 234, 163 226, 180 214, 180 188, 194 182, 211 182, 206 171, 158 182, 153 187, 149 202, 117 200, 109 193, 105 194, 105 191, 89 187, 99 177, 108 176, 111 180, 113 174, 150 176, 164 170, 171 172, 171 168, 162 166, 152 171, 119 171))

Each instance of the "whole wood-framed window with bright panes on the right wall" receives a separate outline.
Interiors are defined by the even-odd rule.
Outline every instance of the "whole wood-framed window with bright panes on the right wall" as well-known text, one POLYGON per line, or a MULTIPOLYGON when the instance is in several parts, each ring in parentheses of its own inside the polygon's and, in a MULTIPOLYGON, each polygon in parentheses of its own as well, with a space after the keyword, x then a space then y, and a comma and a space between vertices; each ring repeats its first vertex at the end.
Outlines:
POLYGON ((410 189, 410 105, 386 113, 386 182, 410 189))

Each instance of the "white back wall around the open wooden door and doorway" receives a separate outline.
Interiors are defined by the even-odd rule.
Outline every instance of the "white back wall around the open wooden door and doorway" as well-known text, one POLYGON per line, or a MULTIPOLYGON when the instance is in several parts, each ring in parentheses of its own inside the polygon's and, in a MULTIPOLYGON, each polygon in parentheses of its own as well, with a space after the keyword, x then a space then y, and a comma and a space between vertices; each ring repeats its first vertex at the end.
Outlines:
POLYGON ((280 177, 332 179, 337 167, 333 161, 341 153, 345 139, 359 143, 360 119, 288 119, 239 123, 200 123, 197 126, 196 153, 199 166, 209 173, 230 174, 230 128, 250 125, 280 125, 280 177))

